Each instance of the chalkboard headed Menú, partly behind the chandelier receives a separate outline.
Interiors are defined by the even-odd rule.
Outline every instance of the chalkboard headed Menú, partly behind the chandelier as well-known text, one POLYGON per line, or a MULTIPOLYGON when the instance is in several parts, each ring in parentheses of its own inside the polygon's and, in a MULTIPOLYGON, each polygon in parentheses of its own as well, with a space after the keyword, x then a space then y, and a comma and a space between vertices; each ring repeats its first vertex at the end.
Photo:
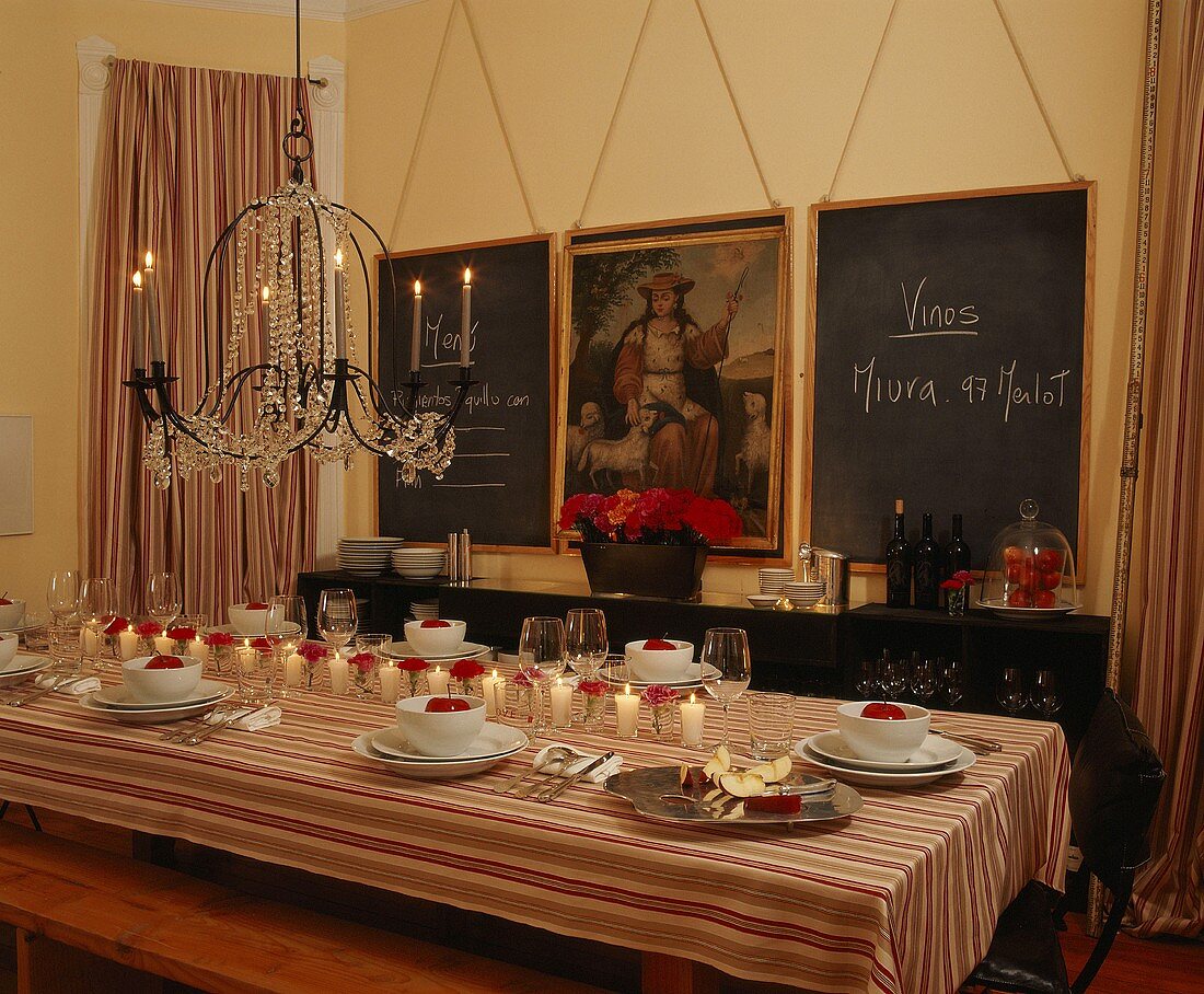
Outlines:
POLYGON ((447 541, 467 528, 478 548, 551 548, 551 383, 555 369, 551 235, 378 257, 378 370, 386 394, 408 396, 413 286, 421 281, 424 336, 420 407, 455 392, 460 298, 472 270, 472 388, 456 420, 456 452, 442 480, 406 486, 379 460, 382 535, 447 541), (397 287, 396 310, 388 271, 397 287))

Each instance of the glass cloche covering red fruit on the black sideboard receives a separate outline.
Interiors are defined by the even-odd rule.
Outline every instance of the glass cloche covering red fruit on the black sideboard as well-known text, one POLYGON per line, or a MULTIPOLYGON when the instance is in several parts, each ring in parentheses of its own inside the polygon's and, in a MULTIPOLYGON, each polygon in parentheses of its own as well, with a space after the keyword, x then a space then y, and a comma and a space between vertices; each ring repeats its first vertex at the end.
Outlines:
POLYGON ((1020 502, 1020 520, 991 543, 979 604, 1005 617, 1049 618, 1079 607, 1074 553, 1061 529, 1037 520, 1037 501, 1020 502))

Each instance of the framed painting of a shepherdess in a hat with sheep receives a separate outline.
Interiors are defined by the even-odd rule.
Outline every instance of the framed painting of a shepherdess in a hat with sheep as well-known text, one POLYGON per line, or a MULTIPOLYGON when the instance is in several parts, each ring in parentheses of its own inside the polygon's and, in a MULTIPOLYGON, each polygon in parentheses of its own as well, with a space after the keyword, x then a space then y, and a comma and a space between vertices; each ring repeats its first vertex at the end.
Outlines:
POLYGON ((785 545, 790 216, 574 231, 565 249, 556 504, 651 487, 727 500, 785 545))

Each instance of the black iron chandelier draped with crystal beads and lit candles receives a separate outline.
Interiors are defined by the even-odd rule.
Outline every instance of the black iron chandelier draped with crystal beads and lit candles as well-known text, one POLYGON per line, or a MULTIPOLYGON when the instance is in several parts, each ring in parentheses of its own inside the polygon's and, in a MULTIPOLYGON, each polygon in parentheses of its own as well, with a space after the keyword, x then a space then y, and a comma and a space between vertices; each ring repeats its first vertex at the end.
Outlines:
MULTIPOLYGON (((418 361, 419 286, 408 381, 386 396, 370 371, 374 300, 360 239, 366 233, 372 251, 379 248, 386 260, 389 252, 367 220, 331 202, 306 180, 303 164, 313 154, 313 140, 301 99, 301 0, 295 82, 294 118, 282 142, 293 164, 289 181, 235 214, 205 266, 201 395, 191 408, 177 406, 171 396, 171 384, 179 377, 170 375, 164 360, 152 253, 146 254, 144 269, 134 274, 134 375, 124 386, 137 398, 147 425, 143 460, 160 489, 171 486, 173 471, 181 478, 205 472, 217 482, 228 466, 238 471, 243 490, 250 486, 252 470, 260 472, 265 486, 275 487, 281 464, 301 449, 321 463, 341 460, 347 467, 355 451, 365 449, 396 460, 402 478, 413 483, 424 470, 442 477, 455 453, 453 425, 476 383, 470 378, 467 337, 459 376, 449 384, 455 388, 452 405, 442 412, 420 412, 418 394, 426 384, 418 361), (367 300, 362 358, 348 264, 362 278, 367 300), (143 322, 149 371, 142 357, 143 322)), ((466 308, 468 278, 466 274, 466 308)), ((390 293, 396 305, 388 265, 382 267, 382 293, 390 293)), ((400 311, 394 306, 390 313, 400 311)), ((464 323, 470 323, 467 313, 464 323)))

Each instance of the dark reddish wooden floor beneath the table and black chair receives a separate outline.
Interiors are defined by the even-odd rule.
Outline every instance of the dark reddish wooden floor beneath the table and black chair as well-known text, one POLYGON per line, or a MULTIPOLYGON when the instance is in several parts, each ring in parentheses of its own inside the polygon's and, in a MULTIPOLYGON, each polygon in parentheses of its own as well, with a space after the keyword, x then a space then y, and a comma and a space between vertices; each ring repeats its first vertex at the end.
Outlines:
MULTIPOLYGON (((123 854, 129 854, 130 852, 131 834, 124 829, 88 822, 82 818, 70 818, 46 810, 40 810, 39 817, 46 831, 63 839, 73 839, 84 845, 123 854)), ((18 824, 29 824, 24 810, 16 806, 10 808, 8 818, 18 824)), ((254 893, 261 893, 262 888, 262 890, 279 896, 282 884, 284 884, 284 889, 299 904, 314 901, 327 911, 331 907, 332 892, 329 882, 325 882, 319 894, 313 895, 309 893, 311 886, 306 881, 307 875, 303 874, 285 871, 283 875, 284 880, 282 880, 279 867, 271 867, 260 880, 256 880, 256 874, 254 872, 255 864, 250 864, 249 860, 237 860, 234 857, 213 854, 212 851, 189 853, 189 858, 195 860, 195 865, 189 867, 190 871, 195 870, 199 875, 220 878, 228 886, 241 886, 254 893)), ((348 884, 346 888, 336 887, 335 890, 344 898, 342 902, 336 901, 336 905, 342 904, 342 912, 347 917, 360 917, 362 919, 362 911, 358 916, 355 908, 356 900, 361 896, 356 893, 360 888, 348 884)), ((288 898, 284 899, 287 900, 288 898)), ((425 907, 419 906, 417 910, 413 910, 413 904, 411 902, 412 922, 419 930, 423 928, 424 921, 431 914, 437 914, 438 908, 442 907, 430 905, 425 907)), ((421 902, 418 904, 421 905, 421 902)), ((374 916, 374 913, 372 914, 374 916)), ((372 916, 368 917, 371 918, 372 916)), ((494 921, 485 916, 477 917, 484 919, 485 923, 494 921)), ((1067 931, 1062 934, 1062 949, 1066 954, 1070 977, 1073 978, 1090 955, 1094 941, 1086 935, 1086 923, 1082 916, 1069 916, 1068 925, 1067 931)), ((483 931, 488 930, 489 927, 485 924, 483 931)), ((478 934, 473 939, 473 942, 479 943, 480 939, 482 934, 478 934)), ((535 945, 539 947, 541 958, 545 959, 548 952, 545 946, 539 946, 538 942, 535 945)), ((490 951, 482 948, 480 945, 476 945, 474 948, 478 953, 490 955, 490 951)), ((509 951, 513 952, 513 948, 512 942, 509 951)), ((596 949, 597 947, 595 946, 594 948, 596 949)), ((580 952, 577 951, 578 954, 580 952)), ((572 957, 573 952, 568 951, 567 955, 572 957)), ((598 976, 596 969, 597 957, 592 958, 591 966, 595 967, 591 970, 592 983, 602 987, 612 987, 620 992, 637 989, 638 961, 635 955, 627 959, 618 955, 604 977, 598 976)), ((16 992, 16 989, 12 934, 5 930, 4 927, 0 927, 0 994, 10 994, 10 992, 16 992)), ((734 980, 724 984, 724 990, 727 994, 754 994, 754 992, 757 994, 769 994, 769 992, 785 989, 766 984, 749 984, 734 980)), ((1204 942, 1169 939, 1143 941, 1122 934, 1116 940, 1116 945, 1112 947, 1094 983, 1091 984, 1090 990, 1092 994, 1204 994, 1204 942)), ((72 994, 72 992, 64 992, 64 994, 72 994)), ((120 992, 113 992, 113 994, 120 994, 120 992)), ((925 993, 908 992, 908 994, 925 993)))

